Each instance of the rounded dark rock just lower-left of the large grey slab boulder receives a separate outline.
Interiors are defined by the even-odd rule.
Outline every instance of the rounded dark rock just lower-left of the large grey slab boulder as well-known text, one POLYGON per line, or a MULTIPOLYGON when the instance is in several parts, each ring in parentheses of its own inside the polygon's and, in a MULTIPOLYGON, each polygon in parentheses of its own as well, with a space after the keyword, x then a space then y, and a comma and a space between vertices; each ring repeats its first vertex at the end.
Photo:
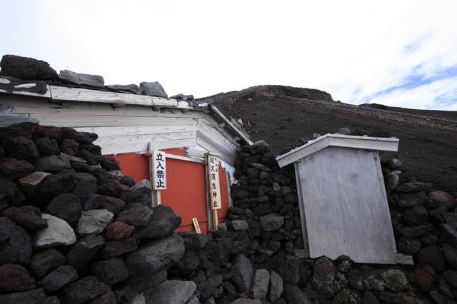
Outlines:
POLYGON ((92 264, 91 272, 107 285, 114 285, 129 277, 129 270, 121 258, 109 258, 92 264))

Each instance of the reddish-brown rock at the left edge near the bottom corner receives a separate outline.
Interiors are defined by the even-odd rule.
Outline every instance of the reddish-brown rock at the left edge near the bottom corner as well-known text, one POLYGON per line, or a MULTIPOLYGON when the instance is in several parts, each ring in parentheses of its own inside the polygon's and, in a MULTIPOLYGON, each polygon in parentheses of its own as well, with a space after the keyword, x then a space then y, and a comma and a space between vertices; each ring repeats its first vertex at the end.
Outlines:
POLYGON ((4 264, 0 266, 0 291, 12 293, 35 289, 35 279, 21 265, 4 264))

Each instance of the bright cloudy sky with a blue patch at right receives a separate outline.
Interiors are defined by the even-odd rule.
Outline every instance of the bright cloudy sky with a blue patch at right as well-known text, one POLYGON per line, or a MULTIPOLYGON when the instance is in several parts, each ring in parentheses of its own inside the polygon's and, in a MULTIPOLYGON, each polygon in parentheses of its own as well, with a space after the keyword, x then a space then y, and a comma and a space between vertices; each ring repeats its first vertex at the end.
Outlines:
POLYGON ((0 56, 196 98, 279 84, 457 111, 457 1, 0 0, 0 56))

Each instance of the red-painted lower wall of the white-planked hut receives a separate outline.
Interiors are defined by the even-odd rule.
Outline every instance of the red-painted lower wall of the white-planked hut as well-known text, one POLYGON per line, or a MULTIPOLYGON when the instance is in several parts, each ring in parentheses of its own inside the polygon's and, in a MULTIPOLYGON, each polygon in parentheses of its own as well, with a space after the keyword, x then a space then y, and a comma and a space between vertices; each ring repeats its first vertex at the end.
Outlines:
MULTIPOLYGON (((186 156, 183 149, 168 149, 166 153, 186 156)), ((132 176, 135 181, 149 180, 149 158, 134 153, 114 156, 124 174, 132 176)), ((173 208, 181 216, 181 226, 177 231, 194 231, 192 218, 199 221, 201 233, 208 230, 206 212, 206 176, 202 163, 181 161, 174 158, 166 159, 167 189, 161 191, 161 202, 173 208)), ((219 222, 226 218, 229 209, 229 191, 226 171, 219 166, 219 182, 221 185, 222 208, 218 211, 219 222)))

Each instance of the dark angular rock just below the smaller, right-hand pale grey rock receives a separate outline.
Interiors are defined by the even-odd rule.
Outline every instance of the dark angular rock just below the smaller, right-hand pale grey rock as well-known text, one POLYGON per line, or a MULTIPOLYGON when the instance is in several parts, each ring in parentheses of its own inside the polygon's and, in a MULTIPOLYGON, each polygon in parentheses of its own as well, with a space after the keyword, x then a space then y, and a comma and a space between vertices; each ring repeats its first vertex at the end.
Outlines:
POLYGON ((105 240, 101 235, 86 235, 73 245, 66 259, 76 269, 82 268, 103 248, 105 240))

